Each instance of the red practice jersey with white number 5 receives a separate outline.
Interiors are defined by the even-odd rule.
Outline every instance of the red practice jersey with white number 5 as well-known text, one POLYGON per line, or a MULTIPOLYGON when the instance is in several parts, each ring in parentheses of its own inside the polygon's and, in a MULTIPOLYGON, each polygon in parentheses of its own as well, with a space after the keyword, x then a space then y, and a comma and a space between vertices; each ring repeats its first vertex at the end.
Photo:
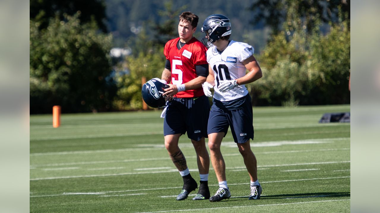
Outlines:
MULTIPOLYGON (((202 42, 193 37, 180 50, 177 49, 179 38, 172 39, 165 44, 164 54, 171 65, 171 83, 173 85, 184 84, 198 77, 195 66, 207 64, 206 47, 202 42)), ((178 92, 178 98, 190 98, 203 96, 203 89, 186 90, 178 92)))

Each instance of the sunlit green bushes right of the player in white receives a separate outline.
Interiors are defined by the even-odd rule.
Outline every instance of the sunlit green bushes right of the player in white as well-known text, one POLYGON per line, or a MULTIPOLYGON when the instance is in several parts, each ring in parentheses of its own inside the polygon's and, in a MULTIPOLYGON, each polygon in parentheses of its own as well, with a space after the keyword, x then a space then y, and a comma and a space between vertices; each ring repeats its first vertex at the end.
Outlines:
MULTIPOLYGON (((273 35, 258 61, 263 78, 249 85, 256 105, 320 105, 350 102, 350 29, 347 21, 322 34, 307 30, 297 5, 288 8, 283 31, 273 35)), ((318 19, 315 19, 315 23, 318 19)))

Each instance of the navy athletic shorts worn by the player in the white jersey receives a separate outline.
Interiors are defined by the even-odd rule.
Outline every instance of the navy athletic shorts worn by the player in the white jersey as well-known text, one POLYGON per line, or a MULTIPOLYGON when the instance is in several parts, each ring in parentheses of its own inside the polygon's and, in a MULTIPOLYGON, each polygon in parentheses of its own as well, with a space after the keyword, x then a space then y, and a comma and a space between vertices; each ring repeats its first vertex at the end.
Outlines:
POLYGON ((253 114, 252 103, 249 94, 246 96, 222 102, 212 100, 207 132, 224 132, 226 136, 228 127, 231 127, 235 143, 245 143, 250 138, 253 140, 253 114))

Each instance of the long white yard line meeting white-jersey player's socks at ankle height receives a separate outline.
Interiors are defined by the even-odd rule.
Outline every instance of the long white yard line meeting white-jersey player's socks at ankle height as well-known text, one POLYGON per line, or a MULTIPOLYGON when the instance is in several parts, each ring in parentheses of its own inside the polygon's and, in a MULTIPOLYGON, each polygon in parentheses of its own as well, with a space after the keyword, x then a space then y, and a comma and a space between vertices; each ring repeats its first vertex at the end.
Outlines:
MULTIPOLYGON (((279 183, 279 182, 294 182, 294 181, 306 181, 306 180, 326 180, 326 179, 340 179, 340 178, 350 178, 350 176, 343 176, 343 177, 320 177, 320 178, 310 178, 310 179, 296 179, 296 180, 274 180, 274 181, 263 181, 261 183, 279 183)), ((247 183, 230 183, 228 185, 249 185, 249 182, 247 183)), ((218 184, 212 184, 209 186, 218 186, 218 184)), ((177 189, 182 188, 182 186, 177 187, 165 187, 165 188, 149 188, 149 189, 137 189, 137 190, 121 190, 121 191, 99 191, 99 192, 88 192, 88 193, 79 193, 79 194, 106 194, 106 193, 120 193, 120 192, 132 192, 132 191, 149 191, 149 190, 168 190, 168 189, 177 189)), ((62 193, 62 194, 51 194, 51 195, 34 195, 30 197, 47 197, 47 196, 62 196, 62 195, 73 195, 77 193, 62 193)))

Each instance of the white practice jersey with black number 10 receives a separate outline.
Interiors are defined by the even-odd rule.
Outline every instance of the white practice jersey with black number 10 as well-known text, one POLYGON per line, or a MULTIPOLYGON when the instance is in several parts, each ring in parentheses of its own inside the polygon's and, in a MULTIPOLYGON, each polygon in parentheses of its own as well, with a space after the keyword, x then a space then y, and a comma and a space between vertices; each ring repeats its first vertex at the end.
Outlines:
POLYGON ((220 92, 218 86, 221 80, 233 80, 243 77, 247 69, 242 62, 253 55, 253 52, 252 46, 236 41, 231 41, 221 54, 218 53, 216 46, 207 50, 207 63, 214 70, 214 99, 231 101, 248 94, 248 90, 244 85, 236 86, 228 92, 220 92))

